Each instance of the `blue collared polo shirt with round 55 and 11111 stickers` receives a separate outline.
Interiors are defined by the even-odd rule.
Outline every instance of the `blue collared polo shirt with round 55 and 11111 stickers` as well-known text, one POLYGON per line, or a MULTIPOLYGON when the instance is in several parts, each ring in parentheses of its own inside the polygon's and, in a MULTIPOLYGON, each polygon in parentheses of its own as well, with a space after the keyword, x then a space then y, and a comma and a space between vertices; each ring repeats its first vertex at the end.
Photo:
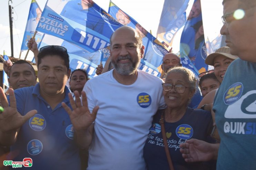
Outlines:
MULTIPOLYGON (((17 141, 11 146, 10 160, 31 158, 30 168, 37 170, 80 169, 79 149, 73 140, 73 127, 61 103, 52 110, 40 95, 39 83, 35 87, 20 88, 14 92, 17 110, 21 115, 34 109, 38 112, 20 128, 17 141)), ((70 90, 65 87, 62 102, 70 107, 68 93, 70 90)), ((22 166, 19 169, 28 168, 22 166)))

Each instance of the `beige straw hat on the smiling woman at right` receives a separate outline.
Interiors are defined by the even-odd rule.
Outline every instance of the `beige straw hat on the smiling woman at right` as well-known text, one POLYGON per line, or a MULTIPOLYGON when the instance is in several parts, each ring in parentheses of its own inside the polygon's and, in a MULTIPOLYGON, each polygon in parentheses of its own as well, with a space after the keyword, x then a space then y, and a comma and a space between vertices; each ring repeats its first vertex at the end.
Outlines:
POLYGON ((215 53, 212 53, 212 54, 210 54, 206 57, 205 64, 213 66, 214 58, 219 56, 219 55, 228 57, 228 58, 233 59, 233 60, 238 58, 238 56, 230 54, 230 48, 229 47, 220 47, 219 49, 216 50, 215 53))

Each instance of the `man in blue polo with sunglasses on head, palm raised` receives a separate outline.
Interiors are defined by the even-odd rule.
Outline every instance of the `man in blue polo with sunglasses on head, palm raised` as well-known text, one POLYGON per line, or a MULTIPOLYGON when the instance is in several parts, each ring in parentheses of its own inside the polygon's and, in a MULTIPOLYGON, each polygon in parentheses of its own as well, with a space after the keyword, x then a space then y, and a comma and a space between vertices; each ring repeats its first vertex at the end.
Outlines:
POLYGON ((4 108, 0 113, 0 144, 11 145, 10 160, 31 158, 32 169, 80 169, 78 146, 70 134, 73 125, 61 106, 61 102, 70 105, 70 90, 65 86, 70 76, 66 48, 42 47, 37 65, 39 83, 17 89, 15 95, 11 89, 10 106, 0 88, 4 108))

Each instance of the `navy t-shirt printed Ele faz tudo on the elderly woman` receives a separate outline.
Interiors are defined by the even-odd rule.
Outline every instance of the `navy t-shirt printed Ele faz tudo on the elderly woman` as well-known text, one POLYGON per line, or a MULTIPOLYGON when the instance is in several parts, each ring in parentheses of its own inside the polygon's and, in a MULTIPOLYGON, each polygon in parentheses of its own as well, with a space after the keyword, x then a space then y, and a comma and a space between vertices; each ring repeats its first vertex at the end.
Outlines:
MULTIPOLYGON (((159 124, 162 112, 164 112, 164 110, 159 110, 154 116, 144 147, 144 159, 148 170, 169 169, 161 133, 161 125, 159 124)), ((211 128, 212 118, 210 112, 201 109, 193 110, 190 107, 187 108, 186 113, 179 121, 175 123, 165 122, 167 143, 175 170, 204 169, 201 162, 185 162, 179 151, 179 145, 190 138, 206 141, 211 128)))

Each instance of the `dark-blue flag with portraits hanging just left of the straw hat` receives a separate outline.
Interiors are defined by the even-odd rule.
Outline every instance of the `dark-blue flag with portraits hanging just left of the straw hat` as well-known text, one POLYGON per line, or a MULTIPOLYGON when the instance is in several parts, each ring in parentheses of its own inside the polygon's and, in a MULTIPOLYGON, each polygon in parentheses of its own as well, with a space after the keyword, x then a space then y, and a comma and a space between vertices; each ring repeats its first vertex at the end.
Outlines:
POLYGON ((189 69, 197 73, 208 70, 205 64, 207 49, 205 46, 204 28, 200 0, 195 0, 188 15, 180 38, 180 57, 183 63, 189 63, 189 69))

